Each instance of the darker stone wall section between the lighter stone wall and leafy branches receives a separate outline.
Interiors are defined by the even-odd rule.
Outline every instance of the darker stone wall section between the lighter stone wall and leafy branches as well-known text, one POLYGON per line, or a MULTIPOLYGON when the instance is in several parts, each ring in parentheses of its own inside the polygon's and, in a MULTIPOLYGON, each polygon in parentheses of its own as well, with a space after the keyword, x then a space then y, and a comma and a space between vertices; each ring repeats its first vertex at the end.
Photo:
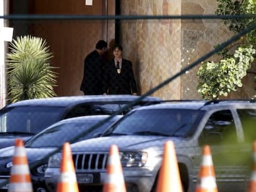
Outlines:
MULTIPOLYGON (((181 3, 182 15, 213 15, 217 8, 216 1, 187 1, 181 3)), ((231 37, 231 32, 223 20, 203 19, 203 20, 182 20, 182 68, 187 67, 200 57, 210 52, 216 44, 223 43, 231 37)), ((217 61, 214 55, 208 61, 217 61)), ((182 99, 200 99, 197 93, 197 70, 200 65, 189 70, 181 78, 182 99)))

